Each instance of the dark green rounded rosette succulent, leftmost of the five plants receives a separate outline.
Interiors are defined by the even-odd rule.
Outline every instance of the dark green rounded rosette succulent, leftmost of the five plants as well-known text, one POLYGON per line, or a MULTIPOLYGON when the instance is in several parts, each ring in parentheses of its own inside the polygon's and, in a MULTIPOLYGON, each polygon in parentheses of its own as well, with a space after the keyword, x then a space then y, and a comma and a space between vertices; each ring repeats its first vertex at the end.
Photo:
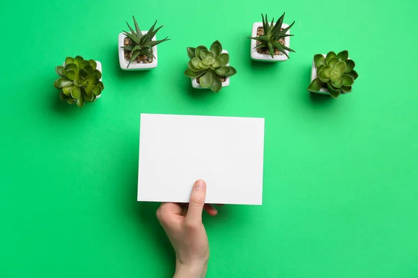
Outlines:
POLYGON ((102 72, 97 70, 95 60, 84 60, 82 56, 65 58, 65 64, 55 68, 60 76, 54 82, 54 87, 61 90, 60 98, 68 104, 77 103, 84 106, 84 102, 93 102, 104 90, 100 79, 102 72))

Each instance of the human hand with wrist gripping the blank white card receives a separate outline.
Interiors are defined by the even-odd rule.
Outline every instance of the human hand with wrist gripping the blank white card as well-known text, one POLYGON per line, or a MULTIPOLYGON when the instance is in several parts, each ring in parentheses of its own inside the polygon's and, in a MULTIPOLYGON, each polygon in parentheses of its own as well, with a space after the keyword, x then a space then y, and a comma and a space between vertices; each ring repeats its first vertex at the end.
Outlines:
POLYGON ((163 203, 157 210, 157 218, 164 228, 176 252, 177 278, 205 277, 208 268, 208 235, 202 223, 203 208, 210 215, 217 210, 205 204, 206 183, 199 179, 194 183, 189 206, 163 203))

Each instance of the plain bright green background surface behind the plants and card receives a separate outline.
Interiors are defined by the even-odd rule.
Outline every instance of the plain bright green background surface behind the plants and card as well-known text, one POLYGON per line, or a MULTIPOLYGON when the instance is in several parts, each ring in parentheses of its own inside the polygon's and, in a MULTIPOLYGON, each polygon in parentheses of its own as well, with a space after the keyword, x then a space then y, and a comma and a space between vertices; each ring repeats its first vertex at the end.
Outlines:
MULTIPOLYGON (((263 206, 204 218, 208 277, 418 277, 416 19, 410 1, 10 1, 0 14, 0 277, 170 277, 138 203, 140 113, 265 117, 263 206), (283 63, 249 57, 260 13, 295 20, 283 63), (118 33, 155 19, 158 67, 123 72, 118 33), (192 90, 186 47, 220 40, 238 74, 192 90), (348 49, 350 95, 307 92, 314 54, 348 49), (100 60, 105 90, 59 100, 54 67, 100 60)), ((210 186, 210 185, 208 185, 210 186)))

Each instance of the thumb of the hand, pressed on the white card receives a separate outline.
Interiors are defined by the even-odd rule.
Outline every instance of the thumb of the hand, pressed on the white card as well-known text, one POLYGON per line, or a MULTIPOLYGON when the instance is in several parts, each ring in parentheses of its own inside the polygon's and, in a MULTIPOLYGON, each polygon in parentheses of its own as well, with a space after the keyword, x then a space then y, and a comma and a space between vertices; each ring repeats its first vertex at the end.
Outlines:
POLYGON ((190 195, 189 208, 186 215, 186 223, 190 225, 202 222, 202 211, 205 205, 206 183, 199 179, 194 183, 192 195, 190 195))

